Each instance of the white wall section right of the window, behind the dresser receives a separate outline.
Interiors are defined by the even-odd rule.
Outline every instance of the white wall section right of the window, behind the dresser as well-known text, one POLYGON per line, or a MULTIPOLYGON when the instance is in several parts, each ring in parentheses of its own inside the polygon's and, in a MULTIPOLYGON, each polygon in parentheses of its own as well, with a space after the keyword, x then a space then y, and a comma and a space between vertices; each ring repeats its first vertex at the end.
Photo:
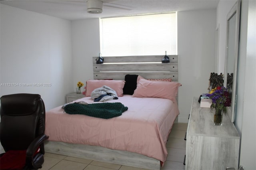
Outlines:
POLYGON ((215 62, 216 10, 178 12, 179 122, 188 122, 192 97, 208 93, 215 62))

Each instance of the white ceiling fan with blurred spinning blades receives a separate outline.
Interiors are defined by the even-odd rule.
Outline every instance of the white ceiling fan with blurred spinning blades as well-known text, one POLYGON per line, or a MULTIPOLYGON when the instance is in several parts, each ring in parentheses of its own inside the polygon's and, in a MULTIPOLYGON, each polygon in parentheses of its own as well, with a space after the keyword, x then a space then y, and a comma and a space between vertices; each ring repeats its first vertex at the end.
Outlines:
POLYGON ((0 2, 7 2, 7 1, 43 1, 48 3, 69 3, 69 4, 78 4, 82 3, 83 5, 86 4, 87 12, 90 14, 100 14, 102 13, 103 4, 104 6, 111 7, 111 8, 118 8, 122 10, 132 10, 130 6, 124 6, 120 4, 112 3, 117 0, 0 0, 0 2))

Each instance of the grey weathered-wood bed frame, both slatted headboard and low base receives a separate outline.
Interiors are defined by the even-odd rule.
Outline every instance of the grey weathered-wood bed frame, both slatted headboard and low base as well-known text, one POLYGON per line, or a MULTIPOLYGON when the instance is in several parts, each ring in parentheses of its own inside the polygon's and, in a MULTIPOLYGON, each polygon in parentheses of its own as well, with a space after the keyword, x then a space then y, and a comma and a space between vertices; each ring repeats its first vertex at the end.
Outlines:
MULTIPOLYGON (((178 81, 178 55, 169 55, 170 63, 161 63, 162 57, 162 55, 104 57, 103 64, 96 64, 97 57, 93 57, 94 79, 124 80, 126 74, 136 74, 145 79, 172 78, 172 81, 178 81)), ((178 97, 176 99, 178 101, 178 97)), ((178 117, 174 123, 178 123, 178 117)), ((112 150, 101 146, 46 141, 45 152, 160 170, 160 161, 157 159, 134 152, 112 150)))

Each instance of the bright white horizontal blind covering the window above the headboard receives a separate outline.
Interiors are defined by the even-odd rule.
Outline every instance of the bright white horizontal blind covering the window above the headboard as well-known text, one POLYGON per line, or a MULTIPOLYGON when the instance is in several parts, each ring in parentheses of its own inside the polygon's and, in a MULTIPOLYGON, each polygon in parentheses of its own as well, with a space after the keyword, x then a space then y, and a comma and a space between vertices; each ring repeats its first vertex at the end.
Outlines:
POLYGON ((100 19, 102 56, 177 54, 177 13, 100 19))

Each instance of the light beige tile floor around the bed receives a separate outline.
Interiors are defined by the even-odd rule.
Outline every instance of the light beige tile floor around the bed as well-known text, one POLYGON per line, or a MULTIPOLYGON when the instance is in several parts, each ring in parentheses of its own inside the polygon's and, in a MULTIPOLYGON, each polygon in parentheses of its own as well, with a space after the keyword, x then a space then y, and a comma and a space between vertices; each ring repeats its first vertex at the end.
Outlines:
MULTIPOLYGON (((186 152, 184 140, 187 123, 174 124, 166 143, 168 156, 161 170, 185 170, 183 165, 186 152)), ((59 154, 45 153, 44 164, 41 170, 145 170, 130 166, 110 164, 95 160, 74 158, 59 154)))

